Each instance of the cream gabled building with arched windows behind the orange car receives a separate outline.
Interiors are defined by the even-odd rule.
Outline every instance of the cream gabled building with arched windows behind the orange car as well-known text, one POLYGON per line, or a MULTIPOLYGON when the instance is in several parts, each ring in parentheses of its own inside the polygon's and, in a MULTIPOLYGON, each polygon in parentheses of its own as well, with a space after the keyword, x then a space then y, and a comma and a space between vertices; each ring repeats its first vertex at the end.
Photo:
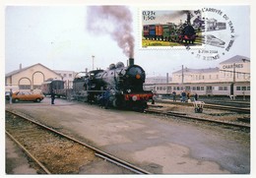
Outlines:
POLYGON ((18 70, 5 75, 5 86, 7 90, 39 90, 41 84, 48 79, 63 80, 64 75, 62 76, 61 74, 62 73, 60 73, 60 71, 55 72, 40 63, 25 68, 20 64, 20 68, 18 70))

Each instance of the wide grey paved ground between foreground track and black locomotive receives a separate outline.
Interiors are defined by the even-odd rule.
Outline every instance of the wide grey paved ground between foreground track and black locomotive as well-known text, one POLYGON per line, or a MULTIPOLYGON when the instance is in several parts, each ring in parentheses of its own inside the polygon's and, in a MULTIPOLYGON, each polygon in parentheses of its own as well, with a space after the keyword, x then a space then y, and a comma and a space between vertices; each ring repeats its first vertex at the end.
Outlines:
MULTIPOLYGON (((62 99, 49 103, 6 106, 153 173, 250 173, 249 133, 62 99)), ((194 114, 193 107, 174 109, 194 114)))

